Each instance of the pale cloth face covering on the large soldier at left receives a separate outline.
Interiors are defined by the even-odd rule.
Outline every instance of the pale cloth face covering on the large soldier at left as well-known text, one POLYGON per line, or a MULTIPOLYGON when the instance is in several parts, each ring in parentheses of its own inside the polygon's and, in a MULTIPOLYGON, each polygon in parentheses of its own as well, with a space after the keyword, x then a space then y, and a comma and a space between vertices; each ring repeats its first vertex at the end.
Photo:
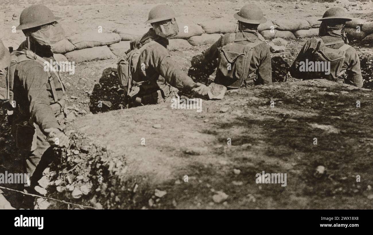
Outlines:
POLYGON ((50 46, 65 38, 65 31, 57 22, 41 26, 30 36, 42 46, 50 46))

